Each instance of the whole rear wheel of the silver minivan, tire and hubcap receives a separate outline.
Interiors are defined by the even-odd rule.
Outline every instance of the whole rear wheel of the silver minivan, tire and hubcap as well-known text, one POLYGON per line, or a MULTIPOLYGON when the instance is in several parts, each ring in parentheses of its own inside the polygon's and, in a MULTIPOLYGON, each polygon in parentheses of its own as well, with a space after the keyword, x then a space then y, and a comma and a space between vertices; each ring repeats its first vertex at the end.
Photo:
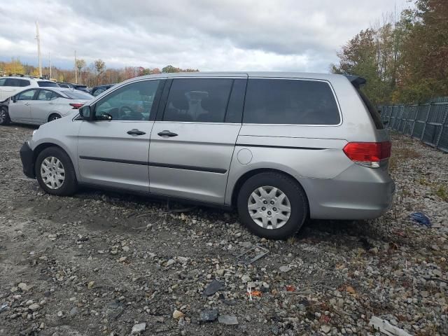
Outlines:
POLYGON ((302 227, 308 202, 302 187, 289 176, 265 172, 251 176, 239 190, 241 222, 255 235, 286 239, 302 227))

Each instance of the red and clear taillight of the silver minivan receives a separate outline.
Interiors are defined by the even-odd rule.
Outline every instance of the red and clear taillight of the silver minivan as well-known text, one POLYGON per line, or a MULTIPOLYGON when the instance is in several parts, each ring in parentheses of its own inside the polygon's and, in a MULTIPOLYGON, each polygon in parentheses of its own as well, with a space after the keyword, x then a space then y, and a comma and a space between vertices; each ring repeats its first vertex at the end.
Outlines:
POLYGON ((391 157, 391 141, 350 142, 343 149, 345 155, 364 167, 378 168, 379 162, 391 157))

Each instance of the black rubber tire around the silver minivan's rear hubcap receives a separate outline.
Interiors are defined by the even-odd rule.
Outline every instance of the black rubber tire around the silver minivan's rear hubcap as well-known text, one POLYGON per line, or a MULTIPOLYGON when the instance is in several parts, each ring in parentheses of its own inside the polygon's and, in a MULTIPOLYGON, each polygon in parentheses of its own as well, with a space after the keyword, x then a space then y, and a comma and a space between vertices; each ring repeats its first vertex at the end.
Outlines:
POLYGON ((237 207, 241 222, 246 228, 259 237, 267 239, 287 239, 293 236, 302 227, 308 214, 308 201, 302 187, 289 176, 265 172, 252 176, 239 190, 237 207), (262 228, 251 218, 248 210, 248 200, 251 194, 263 186, 272 186, 281 190, 288 197, 290 203, 290 216, 288 221, 280 228, 262 228))

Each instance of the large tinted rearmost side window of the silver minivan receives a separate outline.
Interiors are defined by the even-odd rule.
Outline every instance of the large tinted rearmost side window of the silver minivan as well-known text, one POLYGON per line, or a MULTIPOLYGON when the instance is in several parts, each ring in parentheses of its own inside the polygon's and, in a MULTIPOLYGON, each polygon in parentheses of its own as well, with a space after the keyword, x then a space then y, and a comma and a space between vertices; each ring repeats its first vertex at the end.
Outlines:
POLYGON ((330 85, 318 80, 249 79, 244 123, 338 125, 330 85))

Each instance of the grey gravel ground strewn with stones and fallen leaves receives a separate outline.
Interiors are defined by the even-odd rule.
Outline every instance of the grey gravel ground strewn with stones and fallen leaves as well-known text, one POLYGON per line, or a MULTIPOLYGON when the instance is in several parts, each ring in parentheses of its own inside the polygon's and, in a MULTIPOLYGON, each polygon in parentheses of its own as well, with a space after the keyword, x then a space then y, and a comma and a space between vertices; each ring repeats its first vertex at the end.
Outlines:
POLYGON ((446 153, 393 135, 397 195, 385 216, 314 221, 268 241, 216 209, 46 195, 22 174, 32 130, 0 127, 0 335, 379 335, 373 315, 448 335, 446 153), (269 253, 237 265, 257 245, 269 253), (214 279, 221 290, 204 295, 214 279))

